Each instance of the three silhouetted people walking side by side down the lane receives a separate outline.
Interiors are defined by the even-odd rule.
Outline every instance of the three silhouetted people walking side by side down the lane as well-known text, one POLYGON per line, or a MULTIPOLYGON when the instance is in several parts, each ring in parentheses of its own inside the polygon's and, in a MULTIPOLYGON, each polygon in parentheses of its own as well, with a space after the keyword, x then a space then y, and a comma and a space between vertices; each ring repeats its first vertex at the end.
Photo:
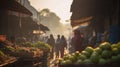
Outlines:
POLYGON ((50 37, 47 39, 46 42, 52 46, 52 58, 54 57, 54 53, 56 53, 56 58, 63 57, 64 49, 67 47, 67 41, 64 35, 57 35, 57 39, 55 39, 54 36, 50 34, 50 37))

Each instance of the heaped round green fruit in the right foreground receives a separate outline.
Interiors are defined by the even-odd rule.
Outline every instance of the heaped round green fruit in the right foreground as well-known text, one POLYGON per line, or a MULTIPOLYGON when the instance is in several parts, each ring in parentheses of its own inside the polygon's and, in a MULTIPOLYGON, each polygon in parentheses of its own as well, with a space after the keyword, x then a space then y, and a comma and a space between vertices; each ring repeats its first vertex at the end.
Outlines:
POLYGON ((120 42, 110 44, 104 42, 98 47, 87 46, 83 51, 76 51, 72 54, 65 54, 59 59, 60 65, 70 64, 118 64, 120 63, 120 42))

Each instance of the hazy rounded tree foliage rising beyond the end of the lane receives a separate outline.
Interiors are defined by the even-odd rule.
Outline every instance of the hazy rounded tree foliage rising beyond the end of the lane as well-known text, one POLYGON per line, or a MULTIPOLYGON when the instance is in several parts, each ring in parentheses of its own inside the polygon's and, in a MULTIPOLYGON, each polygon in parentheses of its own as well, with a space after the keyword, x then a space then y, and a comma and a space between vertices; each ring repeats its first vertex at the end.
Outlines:
POLYGON ((49 9, 43 9, 39 12, 41 24, 46 25, 52 34, 61 34, 62 24, 60 23, 59 16, 51 12, 49 9))

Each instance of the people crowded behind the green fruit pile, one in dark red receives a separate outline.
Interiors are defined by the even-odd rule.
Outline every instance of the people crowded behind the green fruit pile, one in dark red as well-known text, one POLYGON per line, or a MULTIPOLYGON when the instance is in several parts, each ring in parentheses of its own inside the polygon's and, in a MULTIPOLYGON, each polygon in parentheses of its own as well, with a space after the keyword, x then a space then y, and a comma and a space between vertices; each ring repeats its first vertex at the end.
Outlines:
POLYGON ((85 36, 79 29, 76 29, 73 32, 74 32, 74 36, 70 41, 71 52, 75 52, 75 51, 81 52, 87 46, 97 47, 99 43, 108 41, 109 38, 109 33, 107 31, 103 34, 99 33, 96 36, 91 36, 89 38, 85 38, 85 36))

